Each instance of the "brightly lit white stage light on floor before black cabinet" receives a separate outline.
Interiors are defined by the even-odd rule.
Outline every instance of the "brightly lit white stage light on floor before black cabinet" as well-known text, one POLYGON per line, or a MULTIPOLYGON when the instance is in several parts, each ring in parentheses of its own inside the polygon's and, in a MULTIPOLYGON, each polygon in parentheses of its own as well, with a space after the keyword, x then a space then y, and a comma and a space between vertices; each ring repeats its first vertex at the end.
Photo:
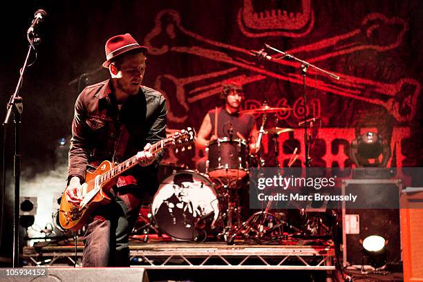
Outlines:
POLYGON ((361 242, 364 259, 367 259, 368 264, 375 267, 375 270, 386 265, 388 260, 387 243, 388 241, 384 237, 377 235, 368 236, 361 242))

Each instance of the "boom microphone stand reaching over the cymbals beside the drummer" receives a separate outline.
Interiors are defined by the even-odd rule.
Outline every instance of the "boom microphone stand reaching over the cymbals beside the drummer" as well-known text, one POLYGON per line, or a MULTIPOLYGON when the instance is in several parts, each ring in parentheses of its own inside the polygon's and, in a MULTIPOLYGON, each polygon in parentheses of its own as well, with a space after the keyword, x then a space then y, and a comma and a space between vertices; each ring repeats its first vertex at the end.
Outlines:
MULTIPOLYGON (((309 67, 312 67, 315 70, 317 70, 317 71, 319 71, 319 72, 321 72, 321 73, 323 73, 325 75, 328 75, 329 77, 332 77, 334 79, 339 80, 339 76, 335 75, 334 73, 330 73, 328 71, 325 71, 322 68, 319 68, 317 66, 314 66, 314 64, 310 64, 309 62, 306 62, 306 61, 304 61, 302 59, 299 59, 299 58, 297 58, 297 57, 295 57, 293 55, 290 55, 290 54, 288 54, 286 52, 283 52, 281 50, 278 50, 276 48, 273 48, 272 46, 270 46, 268 44, 264 44, 264 45, 265 45, 265 48, 268 48, 270 50, 274 50, 276 53, 279 53, 279 54, 282 54, 283 55, 283 57, 281 57, 281 58, 274 58, 274 59, 283 59, 283 58, 287 57, 287 58, 294 59, 295 61, 301 63, 300 71, 301 71, 301 76, 303 77, 303 104, 304 104, 304 147, 305 147, 304 153, 305 153, 305 164, 306 164, 306 167, 310 167, 311 166, 311 158, 310 158, 310 144, 309 144, 309 142, 310 142, 310 138, 311 137, 308 138, 308 133, 307 133, 307 124, 308 124, 308 122, 307 122, 307 111, 306 111, 306 109, 307 109, 307 100, 306 100, 306 73, 307 73, 308 68, 309 67)), ((263 55, 261 55, 261 57, 264 57, 264 58, 267 59, 267 57, 268 57, 267 56, 267 53, 263 53, 263 55)), ((271 59, 272 59, 272 57, 271 57, 271 59)))

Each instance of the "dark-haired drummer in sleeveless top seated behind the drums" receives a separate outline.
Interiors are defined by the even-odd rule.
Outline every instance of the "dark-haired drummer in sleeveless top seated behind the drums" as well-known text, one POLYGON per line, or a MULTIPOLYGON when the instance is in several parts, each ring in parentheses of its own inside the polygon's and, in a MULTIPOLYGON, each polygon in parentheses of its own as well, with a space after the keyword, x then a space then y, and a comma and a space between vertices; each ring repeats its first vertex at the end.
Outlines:
MULTIPOLYGON (((225 82, 222 84, 220 97, 224 105, 210 110, 205 115, 197 134, 196 147, 205 150, 210 141, 226 137, 244 140, 250 145, 250 153, 259 151, 259 144, 256 144, 259 131, 254 115, 239 113, 241 102, 244 100, 241 84, 235 81, 225 82)), ((207 156, 198 160, 198 171, 205 172, 206 160, 207 156)))

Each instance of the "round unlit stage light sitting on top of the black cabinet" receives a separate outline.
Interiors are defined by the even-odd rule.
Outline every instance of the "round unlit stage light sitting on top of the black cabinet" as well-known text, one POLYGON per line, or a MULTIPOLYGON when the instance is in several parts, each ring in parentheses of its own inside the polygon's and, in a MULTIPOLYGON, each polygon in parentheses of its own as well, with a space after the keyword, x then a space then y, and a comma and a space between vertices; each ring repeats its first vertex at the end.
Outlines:
POLYGON ((350 158, 356 167, 386 167, 391 158, 391 147, 381 135, 367 132, 351 143, 350 158), (381 154, 382 161, 379 161, 381 154))

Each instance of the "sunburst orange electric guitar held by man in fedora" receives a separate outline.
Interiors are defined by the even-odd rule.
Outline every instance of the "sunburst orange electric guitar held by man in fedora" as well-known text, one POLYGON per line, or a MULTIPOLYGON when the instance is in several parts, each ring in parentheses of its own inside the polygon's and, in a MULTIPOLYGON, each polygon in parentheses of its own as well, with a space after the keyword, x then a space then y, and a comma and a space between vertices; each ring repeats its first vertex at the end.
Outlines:
MULTIPOLYGON (((160 140, 151 145, 151 153, 157 153, 167 147, 176 148, 176 152, 179 149, 185 151, 185 147, 191 149, 195 136, 196 132, 190 127, 186 130, 176 131, 170 138, 160 140)), ((82 185, 84 199, 79 203, 79 206, 68 203, 66 195, 63 194, 59 209, 60 225, 64 229, 71 231, 81 229, 86 225, 94 209, 99 205, 106 205, 111 202, 107 192, 118 182, 118 176, 124 171, 131 169, 131 167, 135 167, 135 165, 138 165, 136 155, 116 165, 105 160, 95 171, 87 171, 86 182, 82 185)))

